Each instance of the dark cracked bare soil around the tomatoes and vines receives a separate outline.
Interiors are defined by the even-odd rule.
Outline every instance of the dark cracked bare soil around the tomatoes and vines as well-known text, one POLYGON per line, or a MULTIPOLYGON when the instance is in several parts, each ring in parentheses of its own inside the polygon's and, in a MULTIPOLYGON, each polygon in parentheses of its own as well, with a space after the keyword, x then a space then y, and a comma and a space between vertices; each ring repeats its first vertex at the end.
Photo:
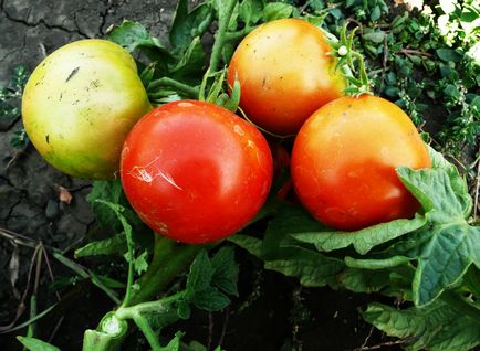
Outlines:
MULTIPOLYGON (((53 1, 1 0, 0 2, 0 86, 6 86, 19 64, 31 72, 59 46, 74 40, 102 38, 123 19, 142 22, 154 35, 165 36, 173 20, 175 1, 107 0, 53 1)), ((15 243, 19 235, 45 246, 67 249, 97 230, 85 196, 91 183, 72 179, 46 164, 33 147, 18 152, 10 145, 21 121, 0 120, 0 326, 8 326, 25 309, 35 274, 30 275, 34 249, 15 243), (73 196, 69 203, 65 192, 73 196), (30 277, 30 279, 29 279, 30 277)), ((66 193, 67 194, 67 193, 66 193)), ((72 252, 67 256, 72 257, 72 252)), ((324 289, 301 289, 294 279, 264 272, 261 264, 240 249, 240 296, 220 313, 196 311, 192 318, 165 330, 171 337, 186 332, 184 340, 198 340, 226 350, 355 350, 365 345, 397 348, 378 331, 364 323, 357 312, 366 296, 324 289)), ((49 257, 55 278, 72 273, 49 257)), ((39 273, 38 311, 56 301, 45 262, 39 273)), ((74 288, 61 291, 60 308, 40 320, 35 336, 62 350, 80 350, 83 331, 95 328, 112 309, 112 301, 88 280, 77 279, 74 288)), ((4 330, 7 328, 1 328, 4 330)), ((21 350, 15 336, 25 329, 0 334, 0 350, 21 350)), ((131 338, 128 349, 147 349, 131 338)), ((365 348, 366 349, 366 348, 365 348)))

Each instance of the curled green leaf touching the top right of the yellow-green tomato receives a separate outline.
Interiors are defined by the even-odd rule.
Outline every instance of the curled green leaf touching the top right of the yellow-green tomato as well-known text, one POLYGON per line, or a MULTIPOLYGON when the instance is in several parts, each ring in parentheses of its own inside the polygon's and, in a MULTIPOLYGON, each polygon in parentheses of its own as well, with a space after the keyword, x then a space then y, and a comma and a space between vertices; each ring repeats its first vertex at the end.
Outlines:
POLYGON ((131 53, 142 50, 150 60, 161 61, 170 57, 161 42, 152 36, 139 22, 124 21, 121 25, 115 26, 106 38, 131 53))

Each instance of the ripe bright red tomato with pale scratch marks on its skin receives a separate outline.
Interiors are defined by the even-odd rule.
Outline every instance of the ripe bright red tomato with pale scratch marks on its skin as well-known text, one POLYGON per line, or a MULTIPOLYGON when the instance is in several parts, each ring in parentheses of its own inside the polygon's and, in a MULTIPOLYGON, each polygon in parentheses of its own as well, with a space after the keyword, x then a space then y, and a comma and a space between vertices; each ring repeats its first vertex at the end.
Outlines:
POLYGON ((121 158, 125 194, 155 232, 189 243, 223 238, 264 203, 273 161, 250 123, 202 102, 155 108, 132 129, 121 158))

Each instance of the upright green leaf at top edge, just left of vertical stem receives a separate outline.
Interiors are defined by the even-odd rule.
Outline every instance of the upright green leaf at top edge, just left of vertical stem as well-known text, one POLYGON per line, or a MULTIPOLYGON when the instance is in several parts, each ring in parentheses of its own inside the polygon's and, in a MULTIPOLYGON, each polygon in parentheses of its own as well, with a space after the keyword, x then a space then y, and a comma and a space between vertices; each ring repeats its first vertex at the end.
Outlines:
POLYGON ((170 29, 170 43, 174 49, 187 47, 196 36, 201 36, 213 20, 213 10, 202 3, 188 12, 188 1, 179 0, 170 29))

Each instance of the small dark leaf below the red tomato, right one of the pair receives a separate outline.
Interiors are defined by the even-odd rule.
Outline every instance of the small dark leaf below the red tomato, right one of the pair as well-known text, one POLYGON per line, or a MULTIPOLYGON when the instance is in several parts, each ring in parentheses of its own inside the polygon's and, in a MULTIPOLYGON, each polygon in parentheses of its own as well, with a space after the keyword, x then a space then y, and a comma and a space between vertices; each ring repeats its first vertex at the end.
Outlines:
POLYGON ((237 281, 239 268, 234 262, 233 247, 222 247, 211 258, 213 274, 211 285, 228 295, 238 296, 237 281))

